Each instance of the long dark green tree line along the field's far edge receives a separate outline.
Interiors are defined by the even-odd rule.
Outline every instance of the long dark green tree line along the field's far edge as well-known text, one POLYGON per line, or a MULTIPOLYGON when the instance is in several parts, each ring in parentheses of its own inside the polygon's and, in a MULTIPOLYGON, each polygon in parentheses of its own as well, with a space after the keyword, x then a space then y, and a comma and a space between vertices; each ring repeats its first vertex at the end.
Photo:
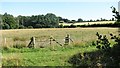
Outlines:
MULTIPOLYGON (((66 18, 58 17, 53 13, 47 13, 46 15, 32 15, 32 16, 22 16, 19 15, 14 17, 11 14, 4 13, 0 14, 0 26, 2 29, 22 29, 22 28, 57 28, 60 27, 59 23, 76 23, 76 22, 95 22, 95 21, 108 21, 106 19, 97 20, 83 20, 78 18, 78 20, 69 20, 66 18), (2 22, 2 23, 1 23, 2 22)), ((110 21, 114 21, 112 18, 110 21)))

